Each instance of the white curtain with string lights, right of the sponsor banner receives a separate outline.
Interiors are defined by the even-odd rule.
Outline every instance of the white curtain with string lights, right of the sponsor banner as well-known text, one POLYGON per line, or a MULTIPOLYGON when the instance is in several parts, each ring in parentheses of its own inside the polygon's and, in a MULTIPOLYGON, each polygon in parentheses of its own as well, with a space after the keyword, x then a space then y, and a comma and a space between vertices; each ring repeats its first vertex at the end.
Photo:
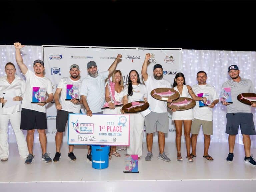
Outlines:
MULTIPOLYGON (((235 64, 240 69, 240 76, 251 79, 256 82, 256 52, 247 51, 211 51, 211 50, 182 50, 181 61, 182 71, 185 75, 187 85, 197 84, 196 74, 198 71, 205 71, 208 79, 207 83, 211 84, 220 93, 222 84, 230 77, 227 73, 228 66, 235 64)), ((254 122, 256 119, 255 109, 254 122)), ((217 104, 213 110, 213 136, 212 142, 228 142, 226 129, 226 107, 217 104)), ((239 130, 236 142, 242 144, 242 135, 239 130)), ((199 141, 203 142, 202 131, 199 135, 199 141)), ((256 147, 256 136, 251 136, 252 146, 256 147)))

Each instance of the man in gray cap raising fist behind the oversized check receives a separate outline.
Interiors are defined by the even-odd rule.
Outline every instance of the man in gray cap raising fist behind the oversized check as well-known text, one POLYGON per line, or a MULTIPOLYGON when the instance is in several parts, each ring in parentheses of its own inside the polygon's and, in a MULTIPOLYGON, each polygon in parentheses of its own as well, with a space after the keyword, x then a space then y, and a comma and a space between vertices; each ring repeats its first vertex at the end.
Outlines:
MULTIPOLYGON (((122 55, 118 54, 115 61, 109 67, 107 71, 98 73, 97 65, 94 61, 87 63, 88 76, 82 81, 81 88, 81 100, 86 110, 86 115, 92 116, 92 114, 102 114, 102 106, 105 103, 105 80, 109 74, 111 74, 117 63, 122 58, 122 55)), ((87 159, 92 161, 91 152, 88 148, 87 159)))

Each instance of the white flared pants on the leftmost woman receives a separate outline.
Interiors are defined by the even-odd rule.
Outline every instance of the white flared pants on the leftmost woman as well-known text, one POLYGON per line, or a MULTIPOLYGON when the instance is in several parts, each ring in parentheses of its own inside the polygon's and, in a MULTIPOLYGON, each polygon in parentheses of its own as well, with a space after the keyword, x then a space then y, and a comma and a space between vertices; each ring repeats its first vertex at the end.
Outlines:
POLYGON ((21 112, 13 114, 0 114, 0 158, 9 158, 9 144, 8 144, 8 123, 11 122, 13 131, 16 136, 19 154, 22 158, 28 155, 28 147, 25 141, 23 132, 20 130, 21 112))

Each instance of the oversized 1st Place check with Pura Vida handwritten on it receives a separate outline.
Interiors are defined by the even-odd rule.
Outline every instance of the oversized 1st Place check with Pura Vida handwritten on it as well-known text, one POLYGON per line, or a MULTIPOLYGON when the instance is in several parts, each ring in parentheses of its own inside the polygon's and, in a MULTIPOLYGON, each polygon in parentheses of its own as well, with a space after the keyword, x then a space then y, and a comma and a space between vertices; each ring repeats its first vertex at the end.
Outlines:
POLYGON ((129 115, 69 114, 69 145, 129 145, 129 115))

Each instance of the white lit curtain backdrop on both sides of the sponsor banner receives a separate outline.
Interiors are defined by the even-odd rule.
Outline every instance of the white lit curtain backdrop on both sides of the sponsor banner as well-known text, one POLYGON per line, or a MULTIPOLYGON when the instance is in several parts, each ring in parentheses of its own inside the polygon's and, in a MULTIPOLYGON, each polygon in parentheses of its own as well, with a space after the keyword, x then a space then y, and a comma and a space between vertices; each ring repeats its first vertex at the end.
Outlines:
MULTIPOLYGON (((25 46, 23 52, 29 54, 24 57, 24 63, 32 69, 33 61, 42 59, 41 46, 25 46)), ((15 61, 14 46, 0 45, 0 76, 5 75, 4 66, 7 62, 12 62, 16 66, 17 75, 24 78, 15 61)), ((244 51, 211 51, 211 50, 182 50, 182 71, 185 75, 186 84, 194 85, 196 81, 196 73, 203 70, 207 73, 207 83, 213 85, 217 92, 221 90, 223 82, 229 79, 227 68, 231 64, 239 66, 243 78, 251 79, 256 82, 256 52, 244 51)), ((161 63, 160 63, 161 64, 161 63)), ((171 82, 172 83, 172 82, 171 82)), ((256 89, 256 88, 255 88, 256 89)), ((228 135, 225 134, 226 128, 226 107, 217 104, 213 111, 213 136, 212 142, 227 142, 228 135)), ((255 109, 253 109, 254 121, 256 119, 255 109)), ((14 132, 10 126, 9 142, 16 142, 14 132)), ((256 136, 251 136, 252 146, 256 147, 256 136)), ((35 134, 35 142, 39 142, 37 133, 35 134)), ((203 142, 203 134, 200 132, 198 142, 203 142)), ((237 143, 242 144, 242 135, 236 138, 237 143)))

